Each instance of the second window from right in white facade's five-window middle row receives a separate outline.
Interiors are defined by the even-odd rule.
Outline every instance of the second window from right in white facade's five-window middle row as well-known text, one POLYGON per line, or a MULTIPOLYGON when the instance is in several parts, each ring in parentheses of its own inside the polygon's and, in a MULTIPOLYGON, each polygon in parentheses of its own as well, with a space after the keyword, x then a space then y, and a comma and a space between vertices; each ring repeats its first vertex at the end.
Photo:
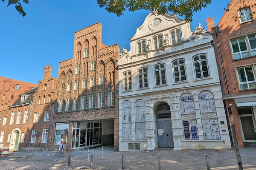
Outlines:
POLYGON ((186 81, 186 70, 184 59, 176 59, 172 62, 174 82, 186 81))

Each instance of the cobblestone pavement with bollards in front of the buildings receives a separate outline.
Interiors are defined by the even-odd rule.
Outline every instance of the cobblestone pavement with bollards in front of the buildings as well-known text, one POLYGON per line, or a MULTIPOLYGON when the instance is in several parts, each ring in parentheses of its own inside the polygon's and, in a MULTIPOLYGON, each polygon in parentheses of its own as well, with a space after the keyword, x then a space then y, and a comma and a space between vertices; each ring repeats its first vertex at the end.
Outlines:
MULTIPOLYGON (((256 170, 256 148, 240 149, 244 170, 256 170)), ((57 151, 13 152, 9 157, 0 158, 3 170, 89 170, 87 150, 74 150, 71 167, 64 156, 57 151)), ((206 170, 205 154, 209 155, 211 170, 238 170, 235 150, 181 150, 158 149, 153 151, 113 152, 112 147, 90 149, 93 154, 93 169, 121 170, 122 154, 125 156, 126 170, 158 170, 157 154, 160 154, 162 170, 206 170)), ((66 157, 67 159, 67 157, 66 157)))

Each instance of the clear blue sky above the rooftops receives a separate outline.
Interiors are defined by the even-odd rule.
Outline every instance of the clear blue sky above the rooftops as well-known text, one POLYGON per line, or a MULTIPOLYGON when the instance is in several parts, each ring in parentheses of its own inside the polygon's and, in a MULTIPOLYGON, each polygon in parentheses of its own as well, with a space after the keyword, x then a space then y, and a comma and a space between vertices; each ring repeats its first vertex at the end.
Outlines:
MULTIPOLYGON (((119 44, 130 50, 133 37, 150 11, 126 11, 121 17, 99 8, 96 0, 35 0, 23 5, 26 17, 17 15, 15 6, 0 1, 0 76, 38 84, 44 66, 52 65, 57 78, 58 62, 72 58, 74 32, 94 23, 102 23, 102 43, 119 44)), ((212 0, 212 4, 194 13, 193 31, 198 23, 213 17, 215 26, 230 0, 212 0)), ((181 17, 183 18, 183 17, 181 17)))

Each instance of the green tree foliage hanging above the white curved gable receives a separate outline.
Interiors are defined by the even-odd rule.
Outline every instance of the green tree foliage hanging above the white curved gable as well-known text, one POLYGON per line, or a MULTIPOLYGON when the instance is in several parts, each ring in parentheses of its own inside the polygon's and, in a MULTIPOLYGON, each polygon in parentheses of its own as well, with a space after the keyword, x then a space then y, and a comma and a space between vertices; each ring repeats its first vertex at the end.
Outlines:
POLYGON ((165 14, 171 11, 185 20, 191 21, 193 12, 205 8, 212 0, 97 0, 99 7, 106 11, 120 16, 127 9, 136 11, 140 9, 157 10, 158 14, 165 14))

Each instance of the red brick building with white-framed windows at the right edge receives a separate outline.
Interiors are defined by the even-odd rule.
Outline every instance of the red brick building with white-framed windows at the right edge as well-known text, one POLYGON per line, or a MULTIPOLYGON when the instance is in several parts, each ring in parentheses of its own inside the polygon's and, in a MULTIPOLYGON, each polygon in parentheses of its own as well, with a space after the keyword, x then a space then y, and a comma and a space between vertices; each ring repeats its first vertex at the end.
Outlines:
POLYGON ((233 114, 239 147, 256 144, 256 15, 251 15, 256 6, 250 0, 243 3, 231 0, 217 26, 207 18, 223 99, 233 114))

